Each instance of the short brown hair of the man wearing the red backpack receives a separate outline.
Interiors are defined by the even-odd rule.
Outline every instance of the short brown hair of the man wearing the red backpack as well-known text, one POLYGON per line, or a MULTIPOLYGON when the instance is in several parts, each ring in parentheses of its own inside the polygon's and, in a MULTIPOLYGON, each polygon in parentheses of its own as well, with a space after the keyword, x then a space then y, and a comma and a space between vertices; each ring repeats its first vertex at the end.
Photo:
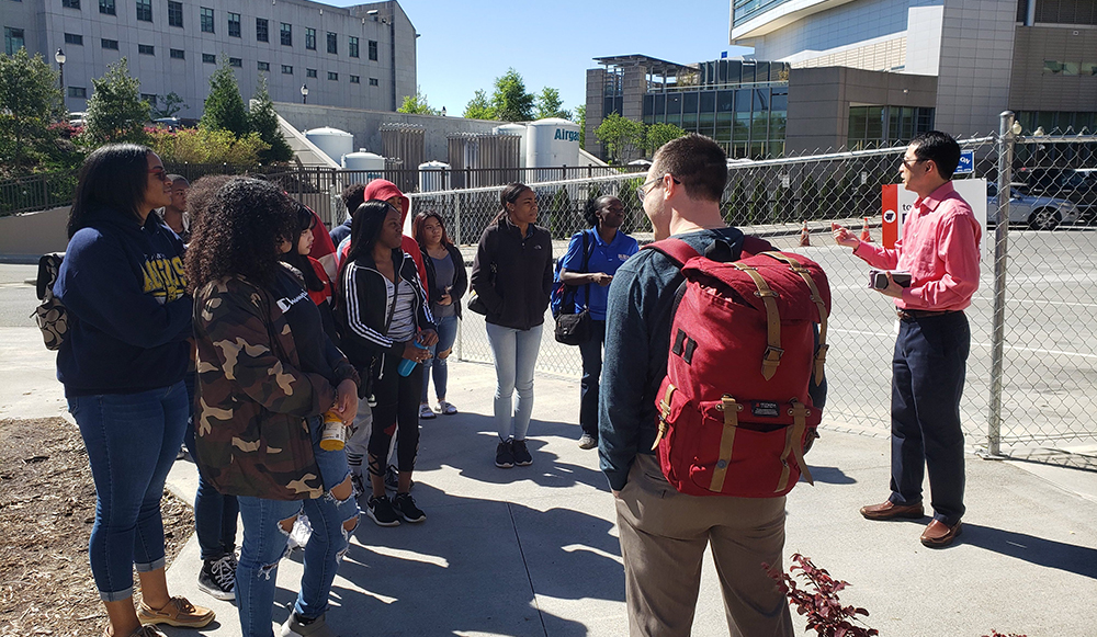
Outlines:
POLYGON ((692 133, 664 144, 655 152, 648 179, 671 174, 690 198, 719 202, 727 185, 727 155, 712 139, 692 133))

